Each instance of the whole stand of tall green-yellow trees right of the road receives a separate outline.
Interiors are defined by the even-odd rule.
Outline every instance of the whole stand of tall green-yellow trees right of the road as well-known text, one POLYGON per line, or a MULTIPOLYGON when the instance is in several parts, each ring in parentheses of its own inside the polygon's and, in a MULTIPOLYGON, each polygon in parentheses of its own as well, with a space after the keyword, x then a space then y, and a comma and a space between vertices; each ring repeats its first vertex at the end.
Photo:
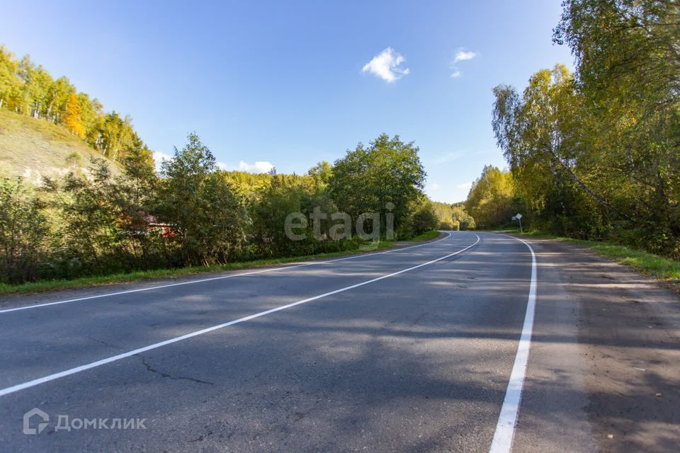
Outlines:
POLYGON ((608 240, 680 258, 680 8, 571 0, 555 45, 575 71, 541 69, 494 88, 507 170, 487 166, 465 209, 477 226, 608 240))

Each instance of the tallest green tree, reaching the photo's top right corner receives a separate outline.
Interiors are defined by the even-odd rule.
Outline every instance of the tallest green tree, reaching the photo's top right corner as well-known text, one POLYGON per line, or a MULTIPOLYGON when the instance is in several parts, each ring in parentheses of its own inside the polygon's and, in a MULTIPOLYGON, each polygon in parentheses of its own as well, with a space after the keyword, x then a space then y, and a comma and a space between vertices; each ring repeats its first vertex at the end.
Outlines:
POLYGON ((636 242, 680 256, 680 8, 570 0, 554 41, 570 46, 591 137, 583 166, 631 217, 636 242))

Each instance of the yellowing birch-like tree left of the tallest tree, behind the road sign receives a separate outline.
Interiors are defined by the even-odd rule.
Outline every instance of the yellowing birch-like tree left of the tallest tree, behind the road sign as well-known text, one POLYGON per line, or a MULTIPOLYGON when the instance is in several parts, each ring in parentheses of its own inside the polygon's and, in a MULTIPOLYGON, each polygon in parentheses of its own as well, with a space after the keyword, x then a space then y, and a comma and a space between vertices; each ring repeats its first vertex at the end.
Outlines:
POLYGON ((492 125, 516 193, 549 229, 560 234, 578 229, 584 236, 604 229, 607 214, 628 218, 594 183, 597 173, 588 170, 596 151, 591 146, 595 118, 564 66, 533 74, 521 97, 509 86, 497 86, 494 94, 492 125))

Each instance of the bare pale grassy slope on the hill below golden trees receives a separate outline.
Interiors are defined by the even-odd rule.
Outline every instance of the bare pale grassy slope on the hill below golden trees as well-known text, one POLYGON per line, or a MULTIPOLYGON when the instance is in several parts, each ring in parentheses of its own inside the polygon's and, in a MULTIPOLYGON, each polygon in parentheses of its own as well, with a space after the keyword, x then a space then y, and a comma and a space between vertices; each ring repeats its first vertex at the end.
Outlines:
POLYGON ((87 168, 91 157, 103 155, 64 127, 0 110, 0 175, 23 176, 39 184, 43 176, 87 168))

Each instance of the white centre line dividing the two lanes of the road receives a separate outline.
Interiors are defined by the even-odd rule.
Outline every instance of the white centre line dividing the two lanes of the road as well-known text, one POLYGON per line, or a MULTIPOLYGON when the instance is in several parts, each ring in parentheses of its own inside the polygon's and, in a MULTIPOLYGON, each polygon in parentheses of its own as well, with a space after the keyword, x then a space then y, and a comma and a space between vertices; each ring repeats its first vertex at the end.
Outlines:
MULTIPOLYGON (((477 234, 475 234, 475 236, 477 236, 477 234)), ((54 381, 55 379, 60 379, 61 377, 67 377, 67 376, 70 376, 71 374, 76 374, 76 373, 79 373, 81 371, 85 371, 86 369, 101 367, 101 365, 106 365, 108 363, 115 362, 116 360, 125 359, 126 357, 141 354, 142 352, 146 352, 148 350, 161 348, 162 346, 166 346, 166 345, 171 345, 172 343, 177 343, 178 341, 181 341, 181 340, 186 340, 188 338, 193 338, 193 337, 196 337, 196 336, 199 336, 199 335, 203 335, 204 333, 217 331, 220 328, 225 328, 227 326, 233 326, 234 324, 242 323, 242 322, 245 322, 245 321, 250 321, 251 319, 259 318, 260 316, 265 316, 267 314, 276 313, 276 311, 289 309, 292 306, 306 304, 307 302, 312 302, 313 300, 322 299, 322 297, 327 297, 327 296, 331 296, 332 294, 338 294, 339 292, 348 291, 348 289, 354 289, 354 288, 361 287, 363 285, 368 285, 369 283, 378 282, 380 280, 384 280, 385 278, 394 277, 395 275, 399 275, 399 274, 403 274, 405 272, 409 272, 409 270, 422 268, 423 266, 436 263, 437 261, 446 260, 446 258, 450 258, 451 256, 455 256, 455 255, 458 255, 459 253, 463 253, 467 249, 476 246, 477 243, 479 243, 479 242, 480 242, 480 236, 477 236, 477 241, 475 241, 475 243, 473 243, 471 246, 467 246, 467 247, 465 247, 465 248, 463 248, 459 251, 449 253, 448 255, 442 256, 441 258, 437 258, 436 260, 428 261, 427 263, 421 263, 419 265, 412 266, 411 268, 398 270, 395 273, 382 275, 381 277, 373 278, 371 280, 366 280, 365 282, 357 283, 356 285, 351 285, 351 286, 347 286, 347 287, 344 287, 344 288, 335 289, 334 291, 324 292, 324 294, 319 294, 318 296, 310 297, 308 299, 302 299, 302 300, 299 300, 297 302, 293 302, 292 304, 277 306, 274 309, 261 311, 261 312, 256 313, 256 314, 251 314, 250 316, 245 316, 244 318, 235 319, 234 321, 229 321, 229 322, 226 322, 226 323, 217 324, 217 326, 204 328, 204 329, 201 329, 200 331, 194 331, 194 332, 191 332, 191 333, 186 333, 183 336, 170 338, 169 340, 164 340, 164 341, 161 341, 159 343, 154 343, 152 345, 145 346, 144 348, 138 348, 138 349, 131 350, 131 351, 128 351, 128 352, 123 352, 123 354, 118 354, 118 355, 114 355, 113 357, 107 357, 106 359, 97 360, 96 362, 91 362, 91 363, 88 363, 87 365, 81 365, 79 367, 66 369, 62 372, 50 374, 50 375, 45 376, 45 377, 39 377, 38 379, 33 379, 32 381, 24 382, 23 384, 16 384, 16 385, 13 385, 11 387, 6 387, 5 389, 0 389, 0 396, 11 394, 11 393, 14 393, 15 391, 28 389, 28 388, 36 386, 36 385, 45 384, 45 382, 54 381)))

